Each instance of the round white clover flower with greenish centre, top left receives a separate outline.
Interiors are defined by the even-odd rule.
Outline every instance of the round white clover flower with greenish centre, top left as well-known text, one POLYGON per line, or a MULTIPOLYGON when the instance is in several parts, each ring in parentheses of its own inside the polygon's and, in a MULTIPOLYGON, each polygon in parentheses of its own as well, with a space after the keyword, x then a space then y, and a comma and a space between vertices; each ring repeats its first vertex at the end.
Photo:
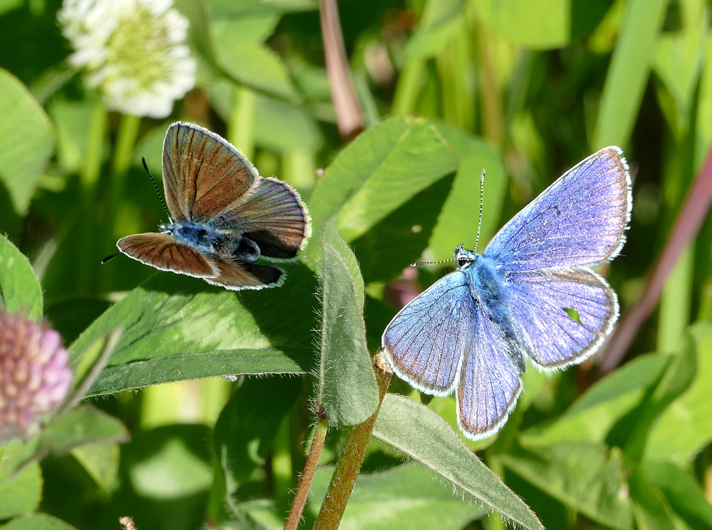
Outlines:
POLYGON ((57 18, 109 110, 165 118, 195 85, 188 20, 172 0, 64 0, 57 18))

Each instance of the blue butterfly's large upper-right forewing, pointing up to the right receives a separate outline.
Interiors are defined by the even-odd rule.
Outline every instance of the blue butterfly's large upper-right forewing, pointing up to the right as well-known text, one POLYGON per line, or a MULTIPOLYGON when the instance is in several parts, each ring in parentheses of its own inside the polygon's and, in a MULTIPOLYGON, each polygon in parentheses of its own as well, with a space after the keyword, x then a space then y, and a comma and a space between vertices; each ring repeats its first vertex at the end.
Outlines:
POLYGON ((595 264, 625 241, 632 199, 618 147, 606 147, 566 172, 515 215, 484 255, 506 271, 595 264))

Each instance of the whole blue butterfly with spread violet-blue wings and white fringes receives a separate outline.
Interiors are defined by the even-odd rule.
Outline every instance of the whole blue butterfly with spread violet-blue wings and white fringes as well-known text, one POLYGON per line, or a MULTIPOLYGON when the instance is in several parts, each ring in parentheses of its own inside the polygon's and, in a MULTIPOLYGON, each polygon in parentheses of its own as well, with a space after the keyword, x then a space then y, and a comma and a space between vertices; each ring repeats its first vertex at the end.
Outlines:
POLYGON ((622 151, 606 147, 515 215, 483 254, 457 247, 457 269, 386 327, 394 373, 427 394, 455 390, 465 435, 493 435, 517 402, 525 356, 563 368, 611 333, 617 296, 592 268, 619 254, 631 207, 622 151))

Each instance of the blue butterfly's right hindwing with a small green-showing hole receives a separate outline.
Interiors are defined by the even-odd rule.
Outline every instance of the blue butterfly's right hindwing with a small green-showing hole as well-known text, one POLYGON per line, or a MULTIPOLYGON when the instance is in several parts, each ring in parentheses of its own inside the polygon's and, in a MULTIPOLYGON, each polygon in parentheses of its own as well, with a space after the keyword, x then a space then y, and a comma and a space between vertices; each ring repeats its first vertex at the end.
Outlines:
POLYGON ((584 267, 513 273, 508 301, 526 353, 548 369, 590 357, 618 318, 616 293, 584 267))

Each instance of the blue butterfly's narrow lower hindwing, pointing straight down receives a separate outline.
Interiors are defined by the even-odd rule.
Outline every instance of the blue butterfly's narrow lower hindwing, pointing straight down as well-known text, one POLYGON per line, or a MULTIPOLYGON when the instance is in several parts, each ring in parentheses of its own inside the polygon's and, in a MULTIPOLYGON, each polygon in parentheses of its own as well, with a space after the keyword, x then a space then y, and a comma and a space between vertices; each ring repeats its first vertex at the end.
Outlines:
POLYGON ((501 329, 476 307, 455 388, 457 422, 472 440, 497 432, 517 402, 522 382, 509 348, 501 329))

